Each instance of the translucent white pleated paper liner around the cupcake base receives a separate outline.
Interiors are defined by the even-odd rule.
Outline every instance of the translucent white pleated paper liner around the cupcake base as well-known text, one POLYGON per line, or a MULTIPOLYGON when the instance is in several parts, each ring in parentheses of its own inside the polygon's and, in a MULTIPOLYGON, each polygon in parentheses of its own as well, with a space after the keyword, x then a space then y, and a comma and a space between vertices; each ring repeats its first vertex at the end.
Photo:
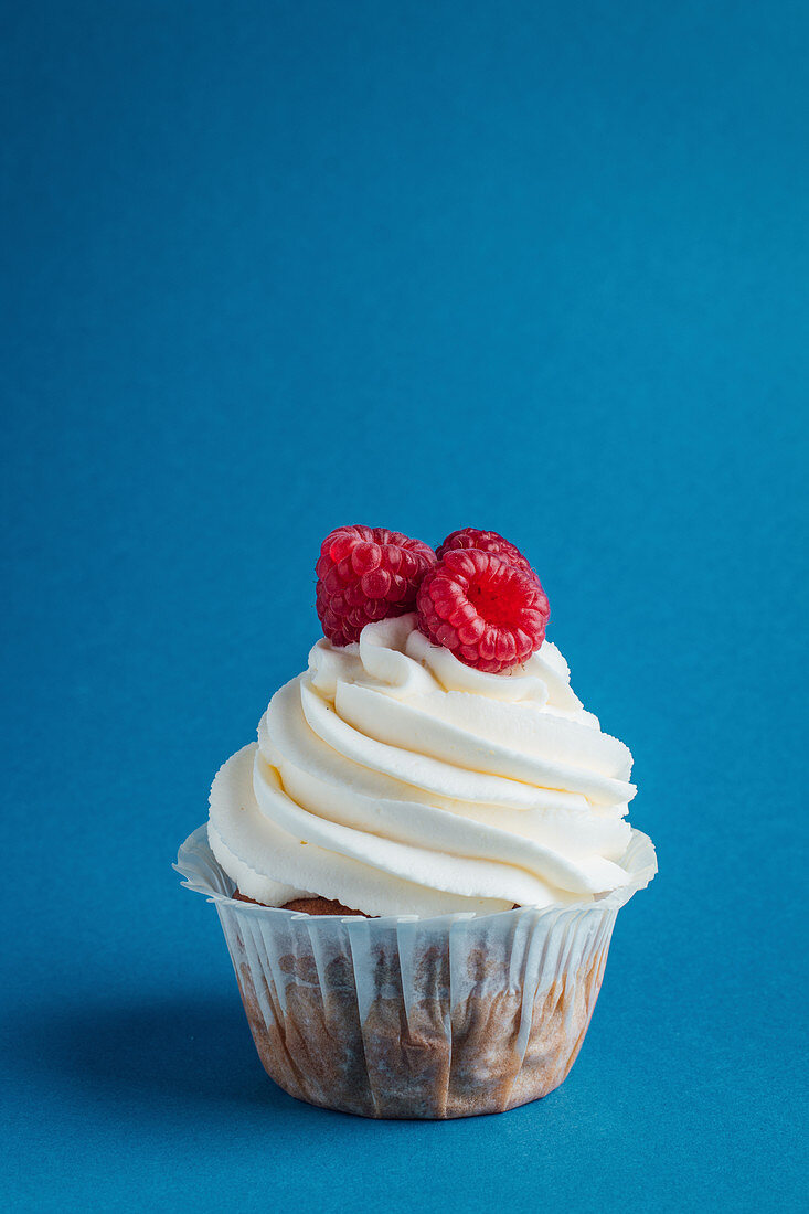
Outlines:
POLYGON ((299 1100, 363 1117, 503 1112, 565 1079, 616 915, 656 870, 633 830, 632 884, 572 907, 436 918, 306 915, 232 898, 199 827, 183 885, 214 902, 265 1070, 299 1100))

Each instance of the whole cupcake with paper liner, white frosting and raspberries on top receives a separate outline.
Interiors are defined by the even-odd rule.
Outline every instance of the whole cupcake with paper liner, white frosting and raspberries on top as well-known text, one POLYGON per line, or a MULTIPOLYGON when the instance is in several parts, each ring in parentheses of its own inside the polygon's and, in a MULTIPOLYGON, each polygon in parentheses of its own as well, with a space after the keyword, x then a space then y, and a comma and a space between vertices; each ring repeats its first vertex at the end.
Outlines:
POLYGON ((618 909, 656 872, 632 755, 545 639, 526 557, 466 528, 323 541, 323 636, 180 850, 265 1070, 366 1117, 503 1112, 565 1079, 618 909))

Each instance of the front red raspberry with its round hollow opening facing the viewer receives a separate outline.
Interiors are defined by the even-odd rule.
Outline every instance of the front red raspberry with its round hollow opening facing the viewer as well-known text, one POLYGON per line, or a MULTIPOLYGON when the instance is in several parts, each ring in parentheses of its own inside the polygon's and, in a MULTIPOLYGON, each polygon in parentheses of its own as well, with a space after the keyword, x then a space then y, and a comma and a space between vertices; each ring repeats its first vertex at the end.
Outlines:
POLYGON ((549 615, 530 569, 477 548, 445 552, 424 575, 417 609, 434 645, 490 674, 527 662, 543 642, 549 615))

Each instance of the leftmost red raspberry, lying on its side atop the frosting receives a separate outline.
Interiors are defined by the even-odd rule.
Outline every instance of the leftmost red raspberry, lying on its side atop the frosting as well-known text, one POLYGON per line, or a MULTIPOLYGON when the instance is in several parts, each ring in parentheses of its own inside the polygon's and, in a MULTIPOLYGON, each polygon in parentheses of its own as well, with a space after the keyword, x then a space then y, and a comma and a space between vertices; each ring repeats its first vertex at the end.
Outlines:
POLYGON ((435 552, 384 527, 338 527, 321 544, 317 614, 333 645, 360 640, 366 624, 415 609, 415 592, 435 552))

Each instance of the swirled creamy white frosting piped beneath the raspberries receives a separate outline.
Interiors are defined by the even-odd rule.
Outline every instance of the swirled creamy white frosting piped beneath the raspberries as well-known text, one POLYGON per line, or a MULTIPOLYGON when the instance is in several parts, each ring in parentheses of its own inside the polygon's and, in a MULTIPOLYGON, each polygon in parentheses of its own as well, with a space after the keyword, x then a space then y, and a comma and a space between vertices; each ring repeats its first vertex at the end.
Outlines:
POLYGON ((592 901, 629 881, 630 771, 549 641, 483 674, 402 615, 313 646, 258 744, 217 773, 209 839, 270 906, 306 892, 372 915, 592 901))

